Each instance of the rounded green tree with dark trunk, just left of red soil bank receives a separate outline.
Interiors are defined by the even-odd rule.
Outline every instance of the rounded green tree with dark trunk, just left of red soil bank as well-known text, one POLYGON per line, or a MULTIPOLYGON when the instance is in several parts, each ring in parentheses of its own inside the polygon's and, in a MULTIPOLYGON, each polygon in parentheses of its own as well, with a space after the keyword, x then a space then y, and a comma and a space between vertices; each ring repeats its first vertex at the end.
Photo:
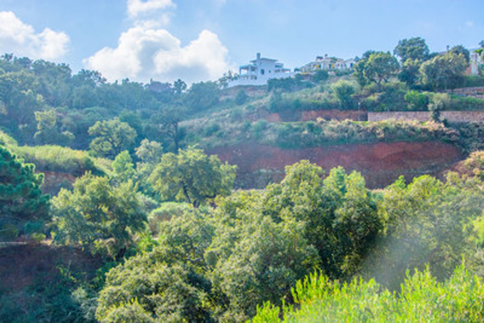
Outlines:
POLYGON ((217 195, 230 194, 236 169, 220 162, 217 156, 205 155, 201 149, 187 149, 178 155, 164 154, 149 181, 163 199, 198 207, 217 195))

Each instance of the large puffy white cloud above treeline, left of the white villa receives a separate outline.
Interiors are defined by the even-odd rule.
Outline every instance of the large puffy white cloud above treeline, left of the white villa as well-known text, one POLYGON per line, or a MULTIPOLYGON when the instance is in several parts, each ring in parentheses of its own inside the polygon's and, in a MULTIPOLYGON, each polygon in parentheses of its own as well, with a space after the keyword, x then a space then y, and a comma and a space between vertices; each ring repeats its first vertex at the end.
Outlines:
POLYGON ((228 50, 218 36, 202 30, 182 46, 166 29, 138 25, 121 34, 118 47, 105 47, 83 60, 86 68, 100 71, 109 81, 128 77, 188 83, 216 79, 229 68, 228 50))

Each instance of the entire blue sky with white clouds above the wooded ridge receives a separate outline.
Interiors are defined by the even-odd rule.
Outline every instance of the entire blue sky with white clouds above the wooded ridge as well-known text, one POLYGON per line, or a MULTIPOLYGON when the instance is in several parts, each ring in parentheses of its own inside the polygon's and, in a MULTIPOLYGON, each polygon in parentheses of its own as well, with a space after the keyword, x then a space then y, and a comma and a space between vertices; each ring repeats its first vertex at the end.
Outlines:
POLYGON ((475 48, 483 0, 0 0, 0 52, 109 80, 215 79, 261 52, 289 68, 421 36, 475 48))

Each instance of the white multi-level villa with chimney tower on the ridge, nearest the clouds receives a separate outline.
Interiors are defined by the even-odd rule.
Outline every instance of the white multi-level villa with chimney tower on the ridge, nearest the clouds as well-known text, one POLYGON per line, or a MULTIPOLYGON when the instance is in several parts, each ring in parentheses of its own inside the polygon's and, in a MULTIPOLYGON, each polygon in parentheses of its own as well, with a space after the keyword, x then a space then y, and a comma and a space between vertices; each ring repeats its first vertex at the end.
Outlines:
POLYGON ((257 59, 251 60, 250 64, 242 65, 239 68, 239 78, 231 81, 228 87, 238 85, 267 85, 271 78, 285 78, 293 76, 291 70, 284 68, 283 63, 277 59, 261 58, 257 53, 257 59))

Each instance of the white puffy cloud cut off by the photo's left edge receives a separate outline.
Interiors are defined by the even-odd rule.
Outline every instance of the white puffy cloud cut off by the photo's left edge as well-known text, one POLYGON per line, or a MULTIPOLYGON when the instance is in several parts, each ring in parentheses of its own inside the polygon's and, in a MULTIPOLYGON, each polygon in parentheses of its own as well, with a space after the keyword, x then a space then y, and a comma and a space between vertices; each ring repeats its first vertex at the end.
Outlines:
POLYGON ((36 33, 11 11, 0 12, 0 53, 14 53, 34 59, 58 59, 67 52, 69 36, 45 28, 36 33))

